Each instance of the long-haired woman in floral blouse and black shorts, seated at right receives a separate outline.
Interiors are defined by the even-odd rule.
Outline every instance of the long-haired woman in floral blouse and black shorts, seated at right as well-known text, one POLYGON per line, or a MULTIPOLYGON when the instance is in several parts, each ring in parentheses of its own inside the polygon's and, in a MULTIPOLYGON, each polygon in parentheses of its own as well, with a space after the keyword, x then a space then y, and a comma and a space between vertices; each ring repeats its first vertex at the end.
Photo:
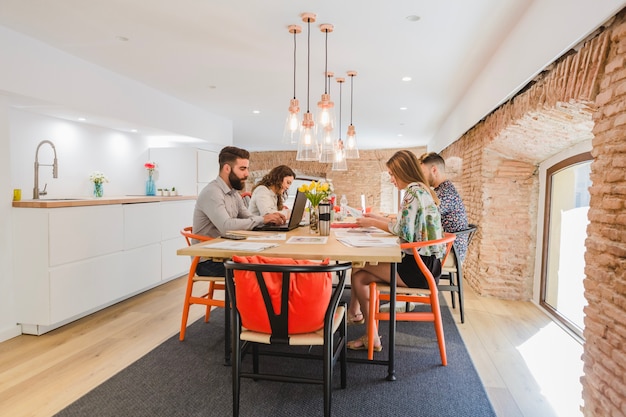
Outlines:
MULTIPOLYGON (((358 218, 357 223, 362 227, 375 226, 381 230, 397 235, 402 242, 422 242, 437 240, 443 237, 441 215, 437 205, 439 199, 434 191, 426 185, 426 179, 420 169, 418 158, 410 151, 396 152, 388 161, 387 169, 391 182, 404 190, 402 207, 397 215, 397 221, 389 218, 365 214, 358 218)), ((435 280, 441 275, 441 258, 445 253, 445 245, 432 245, 421 248, 420 256, 428 269, 433 273, 435 280)), ((417 266, 410 250, 403 252, 402 263, 398 264, 397 285, 400 287, 428 288, 426 278, 417 266)), ((369 284, 370 282, 390 282, 389 264, 366 265, 352 274, 351 299, 348 312, 348 321, 352 324, 365 323, 369 311, 369 284)), ((380 352, 382 345, 376 336, 374 350, 380 352)), ((367 336, 348 342, 348 348, 353 350, 367 349, 367 336)))

